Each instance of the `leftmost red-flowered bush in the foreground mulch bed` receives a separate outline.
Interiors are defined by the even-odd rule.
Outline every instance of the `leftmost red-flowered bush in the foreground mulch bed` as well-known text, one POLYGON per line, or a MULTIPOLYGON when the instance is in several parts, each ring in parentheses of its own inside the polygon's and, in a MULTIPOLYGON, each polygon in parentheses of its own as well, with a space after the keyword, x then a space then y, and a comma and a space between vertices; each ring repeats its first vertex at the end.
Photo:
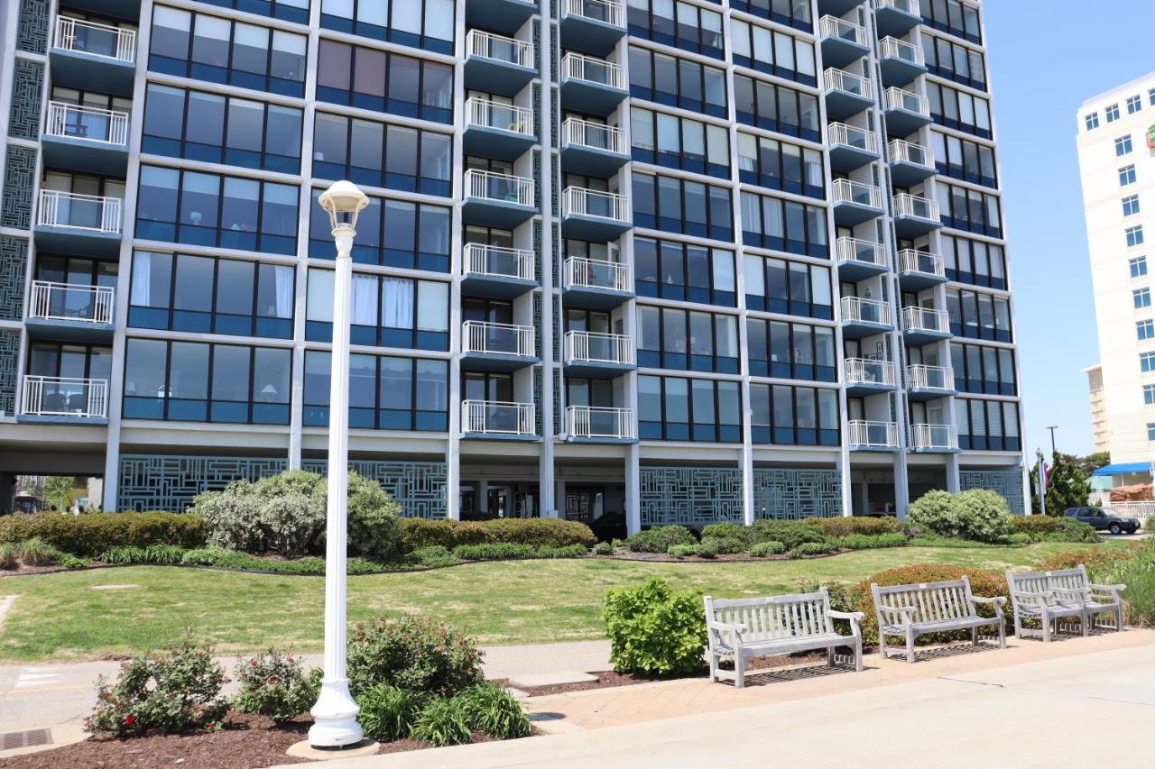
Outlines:
POLYGON ((116 684, 102 675, 85 729, 118 736, 215 729, 229 709, 219 696, 223 684, 224 671, 211 650, 188 636, 158 657, 126 662, 116 684))

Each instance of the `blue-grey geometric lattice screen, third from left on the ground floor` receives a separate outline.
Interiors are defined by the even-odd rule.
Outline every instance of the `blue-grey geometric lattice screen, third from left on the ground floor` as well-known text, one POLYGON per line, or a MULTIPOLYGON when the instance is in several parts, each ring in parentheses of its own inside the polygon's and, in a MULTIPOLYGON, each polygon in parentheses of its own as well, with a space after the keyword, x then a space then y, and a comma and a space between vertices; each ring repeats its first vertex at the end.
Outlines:
POLYGON ((638 498, 643 527, 743 522, 738 468, 641 468, 638 498))

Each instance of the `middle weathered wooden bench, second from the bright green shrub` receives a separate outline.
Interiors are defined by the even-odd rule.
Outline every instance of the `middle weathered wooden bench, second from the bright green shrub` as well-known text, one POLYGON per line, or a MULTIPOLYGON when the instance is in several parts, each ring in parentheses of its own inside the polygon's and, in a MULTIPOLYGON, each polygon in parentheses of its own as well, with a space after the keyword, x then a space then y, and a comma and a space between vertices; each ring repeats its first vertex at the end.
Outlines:
POLYGON ((899 584, 880 588, 870 587, 874 596, 874 613, 878 617, 878 641, 882 659, 891 656, 887 636, 904 640, 907 662, 915 662, 915 639, 926 633, 970 630, 970 641, 978 645, 978 628, 996 626, 999 630, 999 648, 1007 648, 1006 624, 1003 606, 1007 599, 999 596, 983 598, 970 591, 970 580, 927 582, 923 584, 899 584), (979 617, 978 604, 994 606, 994 617, 979 617))

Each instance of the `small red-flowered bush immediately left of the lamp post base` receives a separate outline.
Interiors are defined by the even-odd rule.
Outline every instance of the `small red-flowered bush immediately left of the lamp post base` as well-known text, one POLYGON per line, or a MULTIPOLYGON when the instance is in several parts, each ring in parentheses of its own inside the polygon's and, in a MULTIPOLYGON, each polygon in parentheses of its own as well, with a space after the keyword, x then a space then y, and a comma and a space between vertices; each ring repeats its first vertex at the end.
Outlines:
POLYGON ((237 664, 240 690, 233 707, 273 721, 289 721, 308 710, 321 690, 321 670, 306 672, 300 660, 269 649, 237 664))

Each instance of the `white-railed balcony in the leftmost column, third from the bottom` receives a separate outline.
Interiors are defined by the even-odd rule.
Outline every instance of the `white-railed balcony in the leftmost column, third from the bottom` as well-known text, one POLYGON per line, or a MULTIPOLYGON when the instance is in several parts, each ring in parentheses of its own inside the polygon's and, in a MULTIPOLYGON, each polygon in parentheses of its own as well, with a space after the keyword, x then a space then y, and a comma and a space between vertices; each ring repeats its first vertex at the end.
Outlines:
POLYGON ((35 234, 43 251, 116 256, 120 251, 120 199, 42 189, 35 234))

